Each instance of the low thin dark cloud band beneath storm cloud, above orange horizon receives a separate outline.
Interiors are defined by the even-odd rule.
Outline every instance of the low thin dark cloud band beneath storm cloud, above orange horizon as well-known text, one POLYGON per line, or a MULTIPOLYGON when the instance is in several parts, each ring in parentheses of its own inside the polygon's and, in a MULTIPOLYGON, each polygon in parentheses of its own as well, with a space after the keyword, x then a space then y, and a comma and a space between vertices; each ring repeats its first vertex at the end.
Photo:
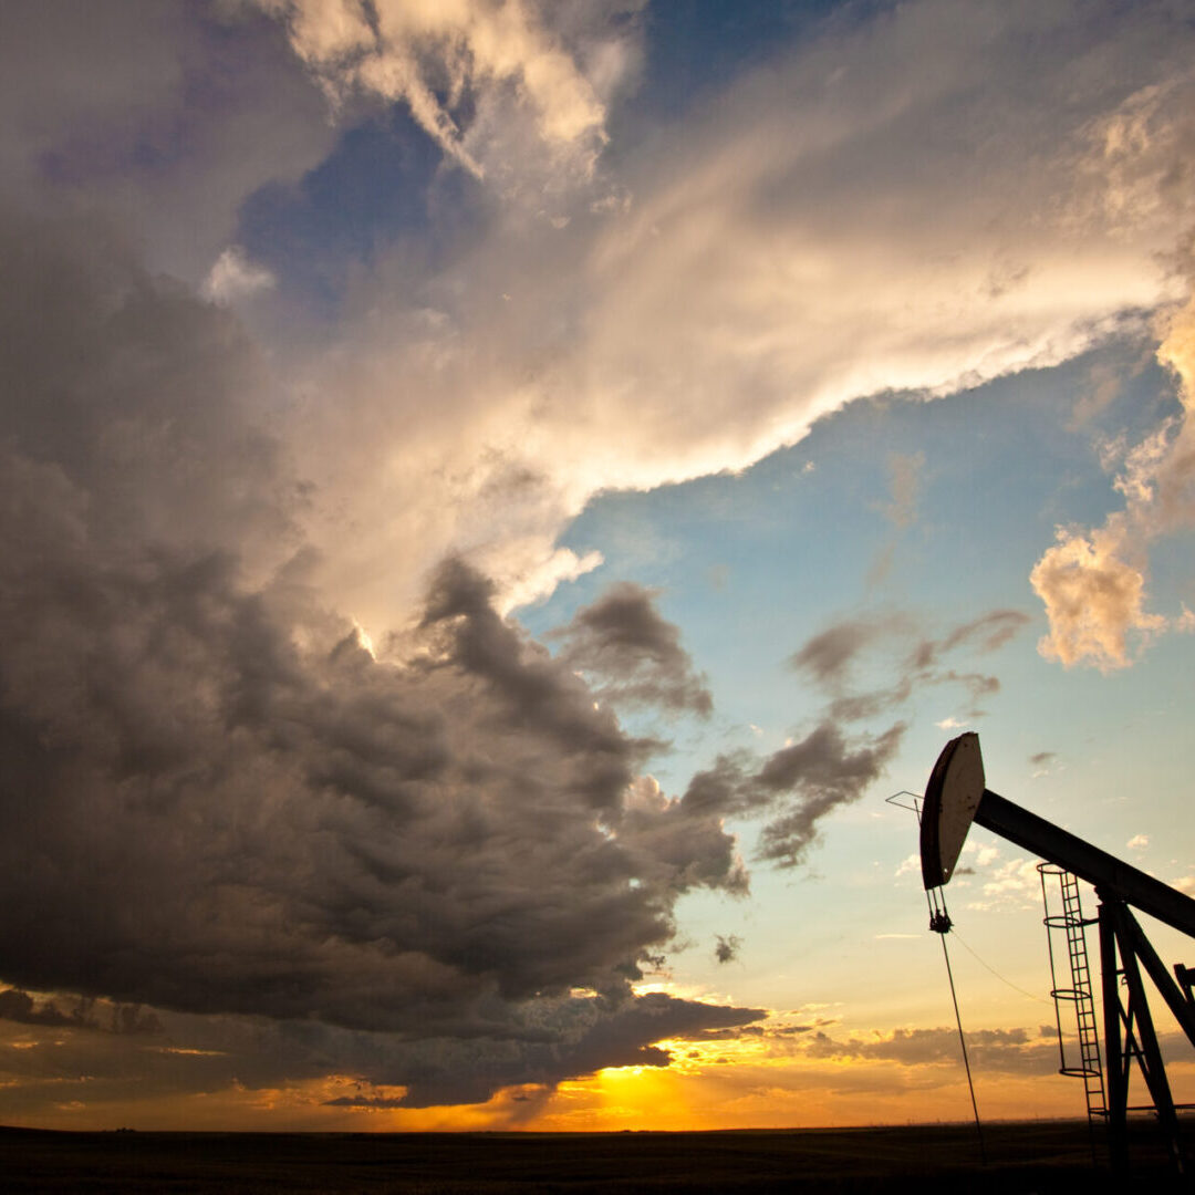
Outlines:
MULTIPOLYGON (((55 1027, 53 1037, 2 1050, 0 1116, 53 1108, 76 1085, 90 1103, 249 1090, 351 1078, 357 1090, 333 1105, 427 1108, 488 1099, 502 1087, 551 1089, 605 1066, 667 1066, 660 1041, 700 1041, 746 1031, 760 1009, 710 1006, 663 993, 611 1004, 602 997, 543 999, 526 1007, 521 1040, 418 1037, 302 1021, 164 1013, 141 1038, 55 1027), (532 1022, 534 1031, 532 1031, 532 1022), (85 1078, 84 1078, 85 1077, 85 1078), (396 1090, 396 1089, 402 1089, 396 1090)), ((0 1030, 0 1044, 2 1030, 0 1030)))

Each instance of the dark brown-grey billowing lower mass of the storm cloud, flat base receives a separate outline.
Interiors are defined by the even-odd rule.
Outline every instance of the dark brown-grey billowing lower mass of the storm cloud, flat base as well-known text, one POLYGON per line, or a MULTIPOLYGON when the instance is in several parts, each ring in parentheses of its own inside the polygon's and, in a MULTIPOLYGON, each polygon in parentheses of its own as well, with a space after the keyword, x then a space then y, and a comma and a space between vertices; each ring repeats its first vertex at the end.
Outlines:
MULTIPOLYGON (((7 652, 27 686, 2 728, 16 981, 507 1032, 507 1000, 625 988, 675 894, 731 878, 716 825, 624 810, 641 744, 488 606, 403 670, 343 641, 305 658, 219 560, 136 564, 76 572, 74 625, 43 592, 7 652), (42 678, 47 619, 81 642, 42 678)), ((476 588, 449 571, 440 593, 476 588)))

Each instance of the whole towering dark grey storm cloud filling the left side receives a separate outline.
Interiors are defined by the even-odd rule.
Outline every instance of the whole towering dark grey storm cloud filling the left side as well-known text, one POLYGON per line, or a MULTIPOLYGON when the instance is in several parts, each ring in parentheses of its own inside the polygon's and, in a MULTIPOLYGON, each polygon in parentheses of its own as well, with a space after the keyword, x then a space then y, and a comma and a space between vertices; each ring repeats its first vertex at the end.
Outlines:
POLYGON ((0 265, 6 980, 269 1018, 283 1073, 356 1058, 424 1102, 755 1016, 631 994, 681 893, 743 889, 735 840, 484 577, 447 560, 382 660, 315 596, 235 320, 98 221, 0 219, 0 265))

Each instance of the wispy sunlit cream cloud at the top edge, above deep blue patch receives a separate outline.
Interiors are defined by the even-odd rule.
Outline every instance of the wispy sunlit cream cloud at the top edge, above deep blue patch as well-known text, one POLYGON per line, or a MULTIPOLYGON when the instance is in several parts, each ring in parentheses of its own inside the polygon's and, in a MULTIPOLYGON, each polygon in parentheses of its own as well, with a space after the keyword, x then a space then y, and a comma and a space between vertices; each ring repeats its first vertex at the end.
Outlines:
POLYGON ((606 103, 638 55, 638 4, 558 11, 468 0, 257 0, 337 109, 402 102, 462 168, 508 198, 593 178, 606 103), (623 18, 623 19, 619 19, 623 18))

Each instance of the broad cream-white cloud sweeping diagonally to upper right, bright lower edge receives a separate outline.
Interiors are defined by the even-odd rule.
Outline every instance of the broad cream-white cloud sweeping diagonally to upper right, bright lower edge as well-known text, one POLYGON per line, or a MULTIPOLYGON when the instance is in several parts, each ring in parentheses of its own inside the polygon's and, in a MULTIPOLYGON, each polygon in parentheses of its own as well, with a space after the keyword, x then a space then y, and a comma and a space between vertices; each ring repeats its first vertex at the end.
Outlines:
POLYGON ((860 394, 1064 360, 1171 295, 1158 255, 1191 201, 1145 195, 1191 120, 1191 35, 1160 7, 969 7, 982 19, 901 6, 740 82, 620 155, 629 208, 558 196, 559 229, 498 214, 430 278, 382 253, 336 353, 292 355, 335 396, 301 409, 295 448, 333 500, 311 531, 358 617, 392 620, 446 546, 519 586, 600 490, 744 467, 860 394), (1098 130, 1151 86, 1150 137, 1114 139, 1114 197, 1098 130))

